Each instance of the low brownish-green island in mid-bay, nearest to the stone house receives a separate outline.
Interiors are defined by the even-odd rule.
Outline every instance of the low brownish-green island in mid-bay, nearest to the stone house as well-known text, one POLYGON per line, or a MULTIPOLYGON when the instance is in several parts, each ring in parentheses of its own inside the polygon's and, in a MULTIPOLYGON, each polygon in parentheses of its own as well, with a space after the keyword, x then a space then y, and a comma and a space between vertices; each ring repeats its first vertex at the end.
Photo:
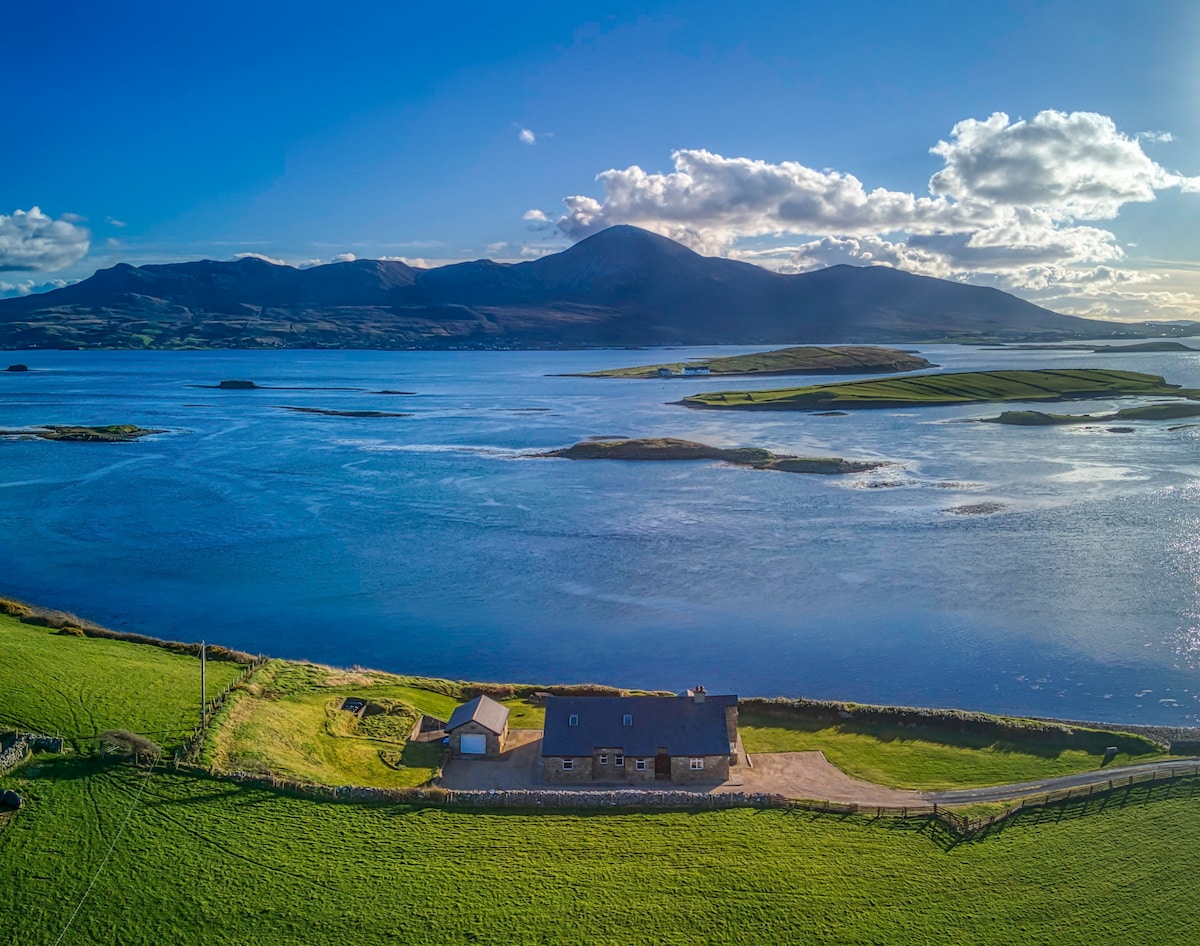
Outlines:
POLYGON ((707 443, 673 437, 629 441, 583 441, 562 450, 536 454, 538 457, 566 460, 721 460, 754 469, 778 469, 784 473, 866 473, 892 466, 887 461, 842 460, 840 456, 790 456, 773 454, 761 447, 709 447, 707 443))

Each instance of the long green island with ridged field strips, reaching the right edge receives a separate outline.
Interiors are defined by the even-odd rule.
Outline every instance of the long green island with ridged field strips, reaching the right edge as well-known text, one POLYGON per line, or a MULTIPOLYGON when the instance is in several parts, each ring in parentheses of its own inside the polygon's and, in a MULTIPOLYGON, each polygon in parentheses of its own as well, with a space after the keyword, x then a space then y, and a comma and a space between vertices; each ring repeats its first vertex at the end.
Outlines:
POLYGON ((731 411, 828 411, 872 407, 931 407, 989 401, 1075 401, 1124 395, 1193 397, 1157 375, 1110 369, 961 371, 878 381, 842 381, 766 391, 714 391, 684 397, 685 407, 731 411))

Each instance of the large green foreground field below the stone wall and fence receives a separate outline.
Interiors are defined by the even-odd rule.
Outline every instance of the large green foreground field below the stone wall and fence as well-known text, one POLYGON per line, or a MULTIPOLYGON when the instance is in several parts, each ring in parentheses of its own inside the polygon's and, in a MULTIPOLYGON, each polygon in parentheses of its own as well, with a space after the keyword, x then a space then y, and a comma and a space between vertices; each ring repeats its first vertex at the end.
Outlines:
MULTIPOLYGON (((17 785, 8 941, 54 942, 137 779, 59 760, 17 785)), ((65 942, 1190 944, 1200 800, 1144 794, 947 848, 917 824, 372 808, 163 773, 65 942)))

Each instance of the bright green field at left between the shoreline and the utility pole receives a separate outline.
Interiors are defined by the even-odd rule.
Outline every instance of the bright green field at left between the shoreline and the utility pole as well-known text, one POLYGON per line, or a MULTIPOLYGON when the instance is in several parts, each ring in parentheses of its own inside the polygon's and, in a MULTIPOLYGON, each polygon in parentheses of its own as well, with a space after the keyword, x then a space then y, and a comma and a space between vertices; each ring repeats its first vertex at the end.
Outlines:
MULTIPOLYGON (((240 670, 210 660, 209 695, 240 670)), ((0 728, 59 732, 77 748, 106 729, 127 729, 170 748, 196 725, 199 689, 194 658, 0 615, 0 728)))

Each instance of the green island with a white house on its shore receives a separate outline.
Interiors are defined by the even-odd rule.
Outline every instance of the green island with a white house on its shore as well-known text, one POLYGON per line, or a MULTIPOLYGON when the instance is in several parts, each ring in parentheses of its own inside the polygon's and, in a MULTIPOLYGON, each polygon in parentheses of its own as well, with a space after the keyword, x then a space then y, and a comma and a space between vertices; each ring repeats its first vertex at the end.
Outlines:
POLYGON ((834 348, 802 346, 780 348, 775 352, 710 358, 706 361, 671 361, 662 365, 640 367, 613 367, 607 371, 589 371, 582 375, 564 375, 576 378, 674 378, 695 375, 864 375, 868 372, 920 371, 937 367, 911 352, 898 348, 877 348, 865 345, 847 345, 834 348))

